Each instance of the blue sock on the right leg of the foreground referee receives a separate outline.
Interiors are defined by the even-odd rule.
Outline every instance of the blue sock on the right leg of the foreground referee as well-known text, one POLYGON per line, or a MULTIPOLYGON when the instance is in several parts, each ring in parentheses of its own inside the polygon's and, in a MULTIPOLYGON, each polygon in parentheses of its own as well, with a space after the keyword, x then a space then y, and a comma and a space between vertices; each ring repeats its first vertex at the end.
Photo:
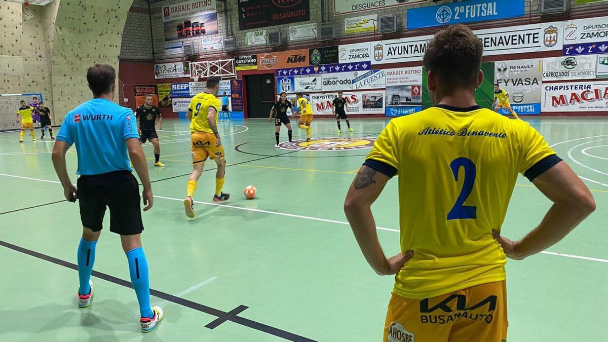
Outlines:
POLYGON ((154 316, 150 307, 150 280, 148 278, 148 261, 141 247, 134 248, 126 253, 129 262, 131 283, 139 302, 139 313, 142 317, 154 316))

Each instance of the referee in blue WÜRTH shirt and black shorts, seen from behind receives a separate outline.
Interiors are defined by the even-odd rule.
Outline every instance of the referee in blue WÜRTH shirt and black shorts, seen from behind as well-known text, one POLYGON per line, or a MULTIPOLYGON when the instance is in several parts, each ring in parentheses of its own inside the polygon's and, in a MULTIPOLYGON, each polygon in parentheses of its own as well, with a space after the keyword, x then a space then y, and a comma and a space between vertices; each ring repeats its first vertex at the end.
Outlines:
POLYGON ((139 142, 133 112, 112 102, 116 71, 95 64, 86 72, 93 99, 67 113, 53 148, 55 172, 68 201, 79 200, 82 239, 78 245, 78 306, 88 307, 93 296, 91 272, 95 245, 103 228, 106 206, 110 209, 110 231, 120 235, 131 282, 139 302, 142 332, 156 328, 163 318, 160 307, 150 307, 148 262, 142 250, 143 231, 137 180, 129 158, 143 183, 143 211, 152 208, 153 197, 145 155, 139 142), (78 189, 67 174, 66 152, 76 144, 78 189), (128 156, 127 156, 128 152, 128 156))

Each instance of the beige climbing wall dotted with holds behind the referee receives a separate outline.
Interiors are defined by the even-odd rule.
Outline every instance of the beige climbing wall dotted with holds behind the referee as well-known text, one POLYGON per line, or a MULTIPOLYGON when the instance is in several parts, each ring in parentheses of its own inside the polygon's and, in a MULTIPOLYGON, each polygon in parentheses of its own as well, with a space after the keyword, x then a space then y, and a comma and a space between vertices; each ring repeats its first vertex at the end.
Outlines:
MULTIPOLYGON (((0 94, 42 93, 53 124, 91 98, 86 69, 109 63, 118 69, 122 29, 133 0, 55 0, 0 4, 0 94)), ((15 108, 18 103, 15 103, 15 108)))

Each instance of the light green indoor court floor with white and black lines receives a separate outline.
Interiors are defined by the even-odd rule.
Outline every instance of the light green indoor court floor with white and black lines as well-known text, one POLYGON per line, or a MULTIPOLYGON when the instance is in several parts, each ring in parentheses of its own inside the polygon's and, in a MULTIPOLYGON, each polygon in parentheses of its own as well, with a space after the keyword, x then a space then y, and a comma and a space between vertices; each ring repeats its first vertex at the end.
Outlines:
MULTIPOLYGON (((549 251, 508 262, 508 340, 608 341, 608 118, 527 120, 593 189, 598 209, 549 251)), ((354 132, 342 138, 374 138, 387 123, 351 121, 354 132)), ((78 205, 64 201, 52 142, 26 135, 19 144, 18 133, 0 133, 0 341, 381 340, 393 279, 368 267, 342 211, 367 149, 276 149, 274 122, 222 122, 224 191, 232 197, 212 202, 215 165, 208 164, 197 216, 188 220, 181 202, 192 171, 188 123, 165 119, 163 128, 166 167, 153 167, 152 146, 144 145, 155 199, 143 213, 142 240, 152 304, 166 316, 145 336, 119 237, 107 229, 97 245, 93 304, 77 308, 78 205), (247 185, 258 189, 254 200, 242 195, 247 185)), ((313 122, 313 138, 337 136, 334 120, 313 122)), ((303 138, 295 128, 294 139, 303 138)), ((67 158, 73 175, 74 149, 67 158)), ((396 187, 391 180, 373 206, 390 255, 399 250, 396 187)), ((503 234, 521 237, 549 206, 520 177, 503 234)))

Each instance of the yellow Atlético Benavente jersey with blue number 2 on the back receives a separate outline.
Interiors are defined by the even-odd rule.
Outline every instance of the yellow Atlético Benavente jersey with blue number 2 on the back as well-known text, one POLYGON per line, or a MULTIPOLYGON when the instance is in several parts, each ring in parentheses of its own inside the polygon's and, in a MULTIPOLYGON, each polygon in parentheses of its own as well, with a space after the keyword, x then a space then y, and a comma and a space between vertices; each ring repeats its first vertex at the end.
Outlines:
MULTIPOLYGON (((431 298, 505 279, 500 232, 517 173, 561 161, 527 122, 479 106, 435 106, 390 120, 365 165, 399 174, 401 251, 394 292, 431 298)), ((392 175, 391 175, 392 173, 392 175)))

